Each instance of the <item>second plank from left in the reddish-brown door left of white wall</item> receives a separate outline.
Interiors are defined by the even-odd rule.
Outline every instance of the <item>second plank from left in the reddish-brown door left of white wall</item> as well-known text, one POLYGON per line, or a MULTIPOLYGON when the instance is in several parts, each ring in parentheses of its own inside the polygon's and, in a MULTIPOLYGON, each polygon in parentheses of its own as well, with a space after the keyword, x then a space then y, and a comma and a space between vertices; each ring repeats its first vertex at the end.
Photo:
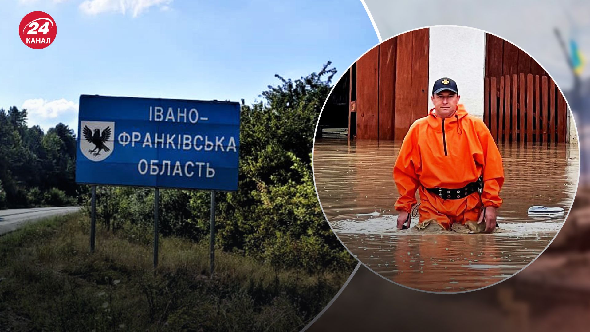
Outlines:
POLYGON ((397 37, 379 45, 379 139, 394 139, 397 37))

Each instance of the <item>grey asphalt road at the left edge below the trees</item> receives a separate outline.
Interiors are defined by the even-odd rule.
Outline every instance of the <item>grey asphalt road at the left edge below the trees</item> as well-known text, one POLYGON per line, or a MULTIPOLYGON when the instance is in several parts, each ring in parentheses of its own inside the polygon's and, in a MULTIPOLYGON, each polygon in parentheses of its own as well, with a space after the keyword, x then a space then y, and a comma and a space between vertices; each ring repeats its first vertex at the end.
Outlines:
POLYGON ((12 232, 27 223, 47 217, 62 216, 80 210, 79 206, 34 207, 32 209, 0 210, 0 235, 12 232))

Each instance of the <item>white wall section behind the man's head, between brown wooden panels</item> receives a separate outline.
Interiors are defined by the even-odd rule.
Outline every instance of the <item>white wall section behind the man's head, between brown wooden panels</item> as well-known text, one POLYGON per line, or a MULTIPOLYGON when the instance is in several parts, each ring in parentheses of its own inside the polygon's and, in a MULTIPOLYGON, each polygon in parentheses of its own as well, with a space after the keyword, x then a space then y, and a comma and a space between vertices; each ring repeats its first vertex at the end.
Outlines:
MULTIPOLYGON (((483 79, 486 59, 483 31, 460 27, 431 27, 428 95, 441 77, 457 82, 459 103, 472 115, 483 118, 483 79)), ((430 97, 429 109, 433 108, 430 97)))

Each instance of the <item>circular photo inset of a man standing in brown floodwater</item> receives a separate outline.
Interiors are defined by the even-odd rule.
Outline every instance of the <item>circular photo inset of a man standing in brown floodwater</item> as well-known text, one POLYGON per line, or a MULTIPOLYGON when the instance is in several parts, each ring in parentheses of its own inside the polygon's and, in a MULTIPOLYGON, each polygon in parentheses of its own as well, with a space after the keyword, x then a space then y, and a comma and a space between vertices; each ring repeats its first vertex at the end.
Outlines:
POLYGON ((330 227, 373 272, 463 292, 516 274, 572 206, 578 135, 525 51, 468 27, 397 35, 336 83, 313 148, 330 227))

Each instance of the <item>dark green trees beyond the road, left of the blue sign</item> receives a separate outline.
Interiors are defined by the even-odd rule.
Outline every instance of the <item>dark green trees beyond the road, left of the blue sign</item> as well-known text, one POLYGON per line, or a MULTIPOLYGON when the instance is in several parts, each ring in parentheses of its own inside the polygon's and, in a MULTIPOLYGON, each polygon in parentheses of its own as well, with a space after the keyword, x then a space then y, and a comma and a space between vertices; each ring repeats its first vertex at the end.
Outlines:
POLYGON ((38 205, 39 197, 64 204, 76 196, 74 179, 76 138, 58 123, 45 135, 27 127, 27 110, 0 109, 0 181, 4 207, 38 205), (37 188, 37 189, 34 189, 37 188))

